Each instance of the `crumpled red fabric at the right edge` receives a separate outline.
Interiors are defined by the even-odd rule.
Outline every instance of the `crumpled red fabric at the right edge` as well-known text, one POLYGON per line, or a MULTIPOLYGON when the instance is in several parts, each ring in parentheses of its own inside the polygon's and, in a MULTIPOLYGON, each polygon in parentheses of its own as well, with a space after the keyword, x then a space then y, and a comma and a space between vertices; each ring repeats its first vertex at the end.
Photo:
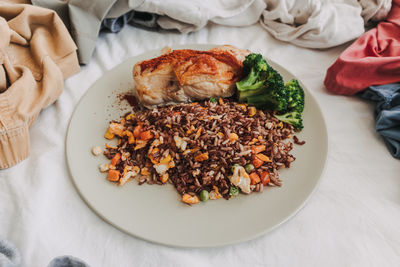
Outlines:
POLYGON ((325 87, 353 95, 371 85, 400 81, 400 0, 392 1, 385 22, 364 33, 329 67, 325 87))

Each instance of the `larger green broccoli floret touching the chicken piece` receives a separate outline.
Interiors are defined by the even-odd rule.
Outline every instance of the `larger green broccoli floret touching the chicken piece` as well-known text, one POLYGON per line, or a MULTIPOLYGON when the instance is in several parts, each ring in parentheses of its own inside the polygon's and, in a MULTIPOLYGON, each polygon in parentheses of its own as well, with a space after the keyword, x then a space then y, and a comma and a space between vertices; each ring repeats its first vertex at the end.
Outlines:
POLYGON ((236 83, 239 101, 258 108, 287 109, 288 95, 282 76, 260 54, 249 54, 243 61, 244 78, 236 83))

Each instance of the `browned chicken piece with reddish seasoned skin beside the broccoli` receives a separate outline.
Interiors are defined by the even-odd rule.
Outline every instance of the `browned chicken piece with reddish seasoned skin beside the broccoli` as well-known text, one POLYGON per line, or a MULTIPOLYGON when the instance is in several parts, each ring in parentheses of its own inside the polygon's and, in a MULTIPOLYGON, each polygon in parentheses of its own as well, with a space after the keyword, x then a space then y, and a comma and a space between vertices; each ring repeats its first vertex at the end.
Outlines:
POLYGON ((210 97, 229 97, 250 51, 219 46, 208 51, 173 50, 133 67, 140 102, 152 108, 210 97))

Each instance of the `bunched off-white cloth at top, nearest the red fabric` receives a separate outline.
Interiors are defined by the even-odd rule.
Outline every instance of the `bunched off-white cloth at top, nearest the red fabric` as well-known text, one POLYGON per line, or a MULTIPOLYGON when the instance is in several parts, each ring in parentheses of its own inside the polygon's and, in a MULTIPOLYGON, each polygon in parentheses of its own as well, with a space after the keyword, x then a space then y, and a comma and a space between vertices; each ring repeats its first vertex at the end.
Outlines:
POLYGON ((261 25, 275 38, 310 48, 343 44, 364 32, 357 1, 269 0, 261 25))

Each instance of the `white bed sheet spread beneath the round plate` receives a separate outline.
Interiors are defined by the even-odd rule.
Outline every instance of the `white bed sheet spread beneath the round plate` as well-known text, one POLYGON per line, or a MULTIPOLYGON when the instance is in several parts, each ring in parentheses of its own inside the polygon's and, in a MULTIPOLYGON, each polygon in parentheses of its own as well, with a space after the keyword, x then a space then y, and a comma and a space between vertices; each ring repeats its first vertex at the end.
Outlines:
POLYGON ((32 125, 31 156, 0 171, 0 236, 18 247, 22 267, 47 266, 61 255, 93 267, 397 267, 399 161, 375 133, 374 104, 331 95, 323 87, 326 69, 344 49, 321 51, 283 43, 265 34, 259 24, 209 25, 191 34, 127 26, 118 34, 101 35, 90 64, 66 80, 58 101, 32 125), (69 177, 68 122, 93 82, 131 56, 186 43, 232 44, 264 53, 301 79, 325 115, 330 152, 316 192, 295 217, 255 240, 221 248, 177 249, 131 237, 94 214, 69 177))

